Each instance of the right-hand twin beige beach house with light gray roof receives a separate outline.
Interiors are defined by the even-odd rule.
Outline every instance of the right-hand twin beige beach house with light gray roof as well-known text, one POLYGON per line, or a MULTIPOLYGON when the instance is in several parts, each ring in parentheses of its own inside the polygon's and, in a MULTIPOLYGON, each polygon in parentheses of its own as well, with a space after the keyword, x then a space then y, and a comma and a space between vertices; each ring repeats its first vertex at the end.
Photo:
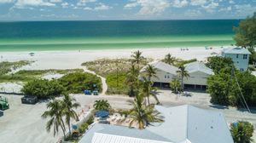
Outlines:
POLYGON ((184 87, 190 89, 206 89, 207 78, 214 75, 212 69, 199 61, 195 61, 184 66, 185 70, 189 72, 189 77, 183 78, 184 87))

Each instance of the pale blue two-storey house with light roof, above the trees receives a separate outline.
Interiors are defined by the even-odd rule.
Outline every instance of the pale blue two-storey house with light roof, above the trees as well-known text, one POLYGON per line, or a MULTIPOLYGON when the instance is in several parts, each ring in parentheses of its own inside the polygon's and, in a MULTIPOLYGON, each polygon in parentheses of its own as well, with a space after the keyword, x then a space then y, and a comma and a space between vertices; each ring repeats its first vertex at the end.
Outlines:
POLYGON ((233 60, 236 68, 241 72, 247 71, 250 54, 251 53, 247 49, 242 49, 239 47, 223 49, 221 52, 221 56, 230 57, 233 60))

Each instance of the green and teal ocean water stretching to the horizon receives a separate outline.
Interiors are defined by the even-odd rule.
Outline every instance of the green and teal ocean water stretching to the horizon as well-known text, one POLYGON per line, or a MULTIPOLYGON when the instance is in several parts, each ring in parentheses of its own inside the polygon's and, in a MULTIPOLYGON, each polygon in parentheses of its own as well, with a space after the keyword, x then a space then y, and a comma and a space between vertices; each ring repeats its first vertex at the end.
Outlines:
POLYGON ((225 46, 239 20, 0 22, 0 51, 225 46))

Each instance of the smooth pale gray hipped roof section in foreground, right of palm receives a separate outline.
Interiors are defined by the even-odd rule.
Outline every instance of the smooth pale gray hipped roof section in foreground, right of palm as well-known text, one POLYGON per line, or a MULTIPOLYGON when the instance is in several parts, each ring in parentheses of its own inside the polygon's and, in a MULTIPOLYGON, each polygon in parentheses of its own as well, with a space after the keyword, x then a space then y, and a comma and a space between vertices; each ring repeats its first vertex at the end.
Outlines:
POLYGON ((233 143, 230 130, 221 112, 195 106, 155 106, 165 117, 160 126, 147 129, 174 142, 233 143), (164 130, 164 132, 163 132, 164 130))

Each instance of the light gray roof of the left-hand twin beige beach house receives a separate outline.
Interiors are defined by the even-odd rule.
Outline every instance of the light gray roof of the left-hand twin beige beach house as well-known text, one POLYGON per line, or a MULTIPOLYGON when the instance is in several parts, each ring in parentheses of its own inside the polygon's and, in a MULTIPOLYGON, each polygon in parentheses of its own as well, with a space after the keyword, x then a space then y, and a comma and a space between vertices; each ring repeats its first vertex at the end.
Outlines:
MULTIPOLYGON (((177 74, 177 67, 175 66, 171 66, 168 65, 162 61, 154 61, 152 63, 149 63, 149 65, 154 66, 154 68, 160 70, 160 71, 164 71, 164 72, 168 72, 171 73, 173 75, 177 74)), ((147 66, 144 66, 143 69, 140 72, 144 72, 147 66)))

